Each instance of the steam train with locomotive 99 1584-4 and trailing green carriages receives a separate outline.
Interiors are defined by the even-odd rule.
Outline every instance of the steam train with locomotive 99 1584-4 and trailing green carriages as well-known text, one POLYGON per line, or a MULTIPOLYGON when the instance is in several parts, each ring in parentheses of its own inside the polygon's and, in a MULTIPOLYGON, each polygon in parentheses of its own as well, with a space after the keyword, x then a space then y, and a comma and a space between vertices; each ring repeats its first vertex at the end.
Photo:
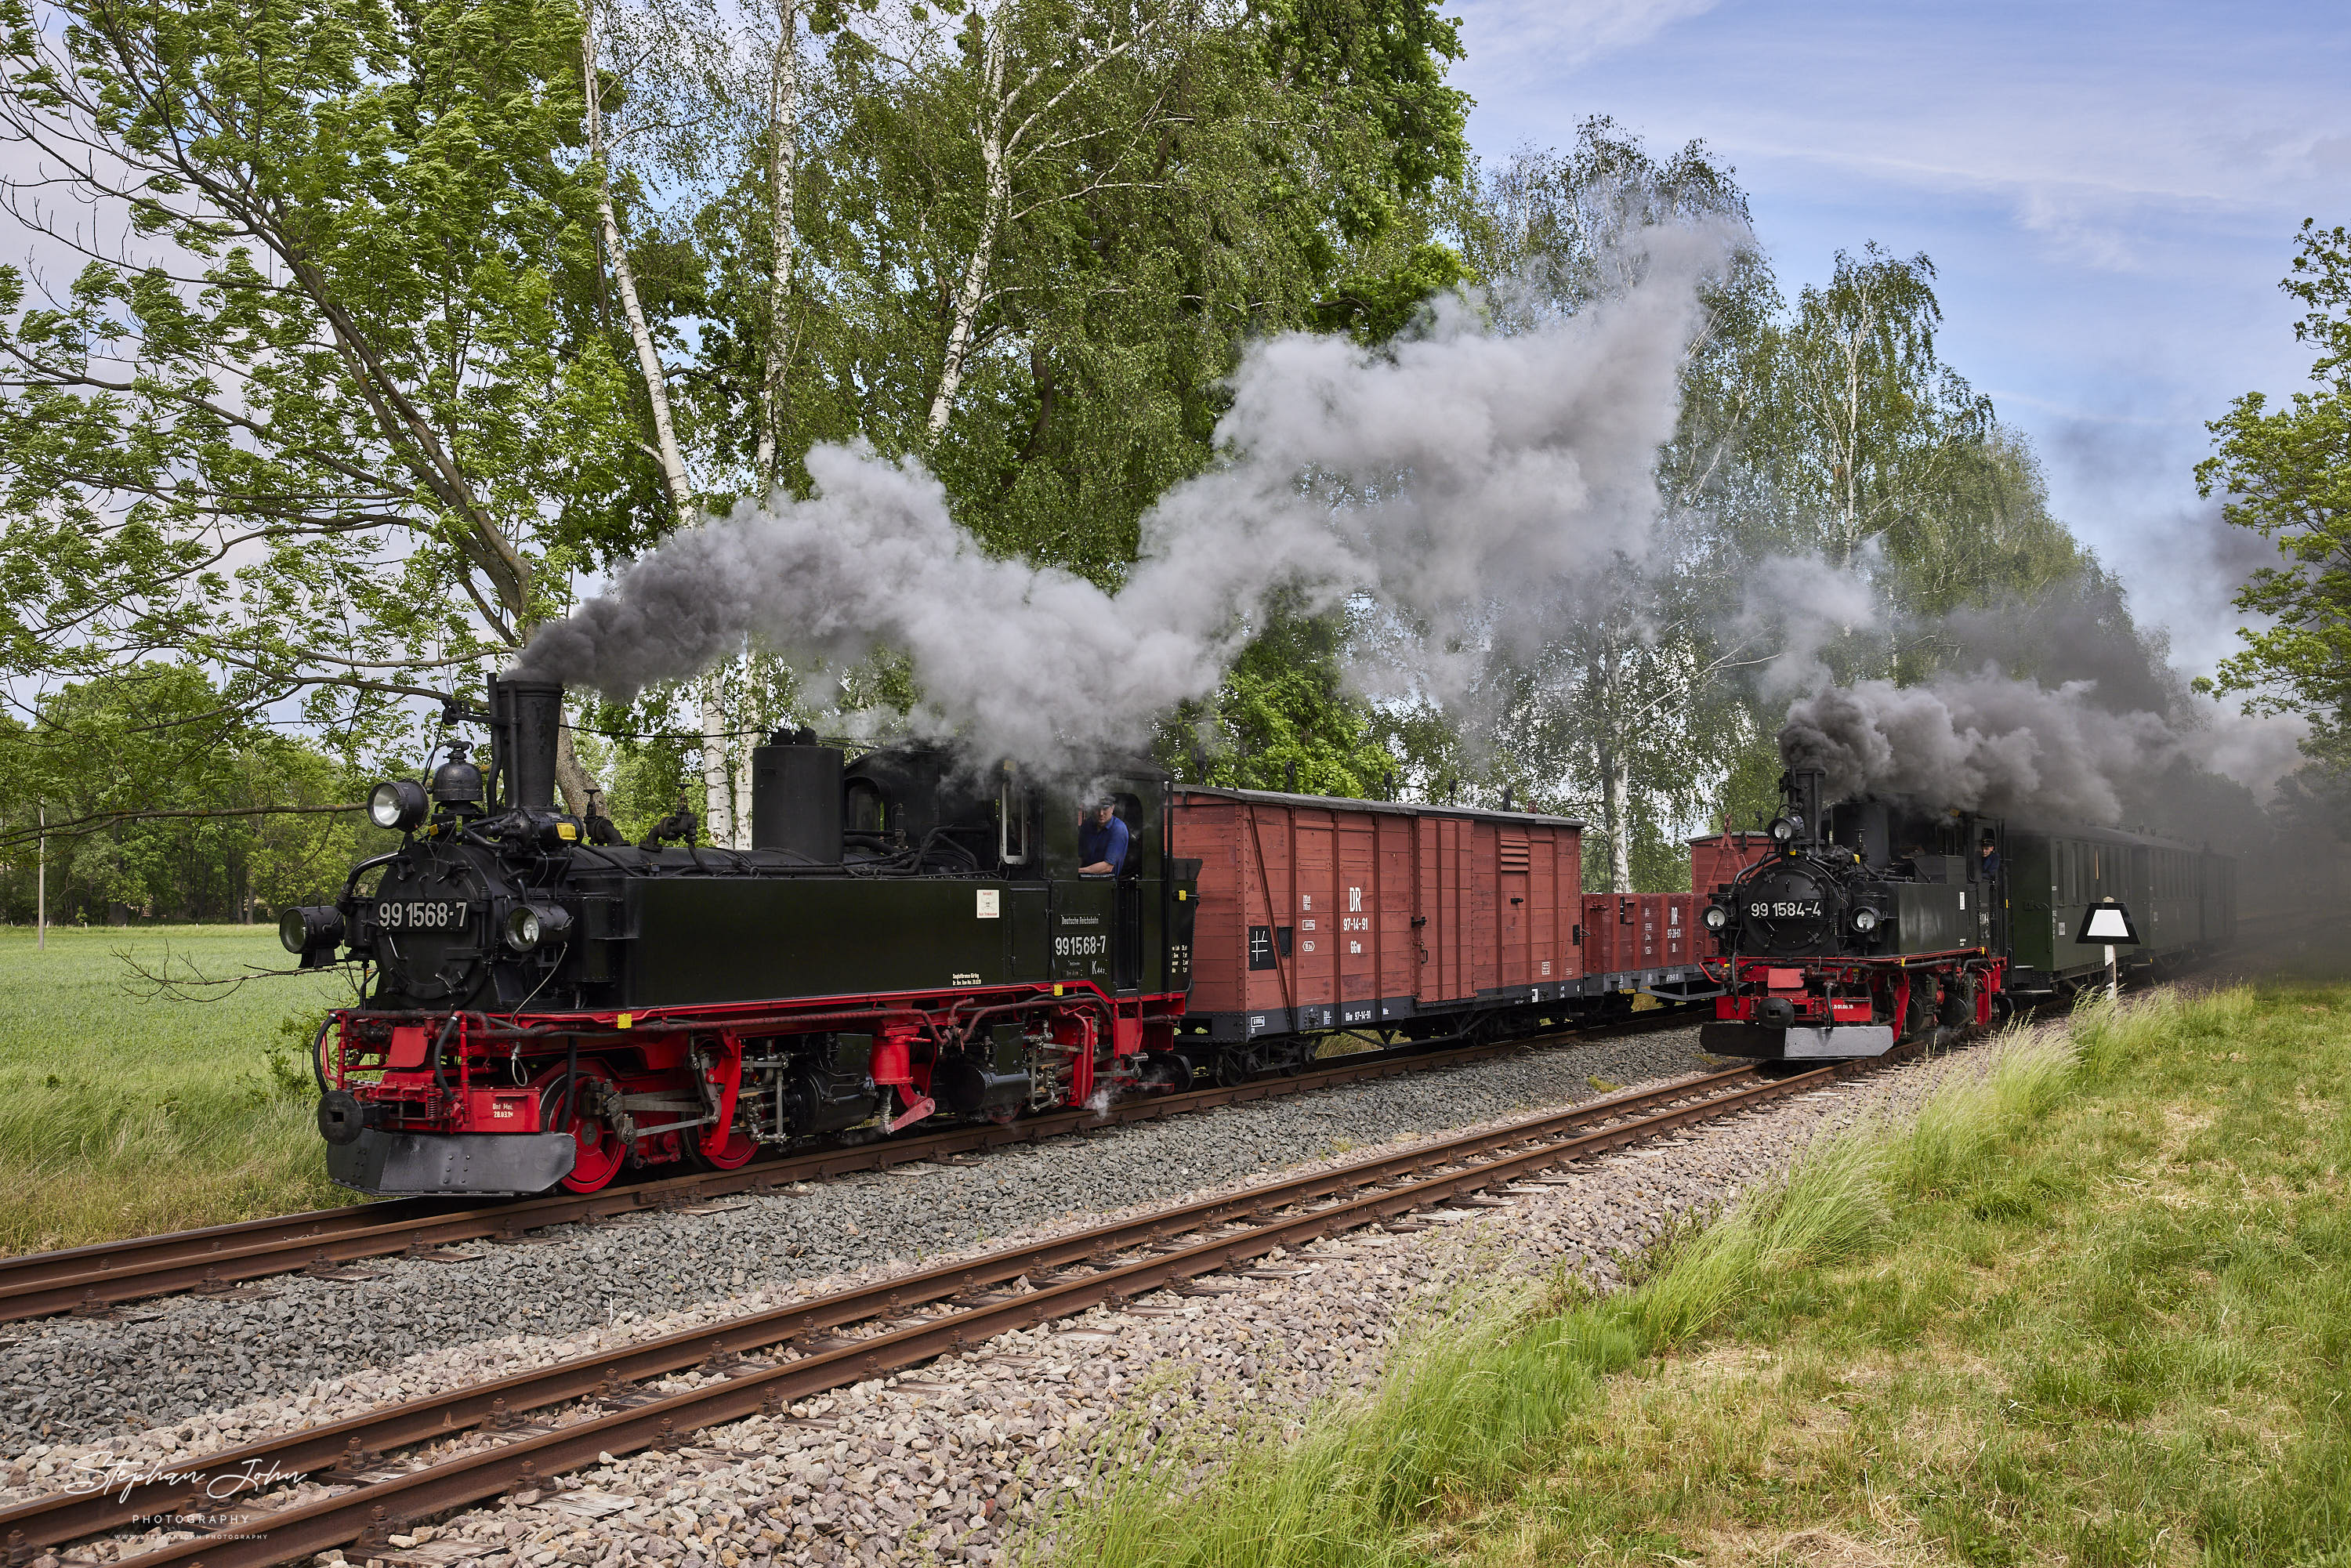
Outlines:
POLYGON ((1902 802, 1822 802, 1780 780, 1768 851, 1714 889, 1719 1056, 1855 1058, 2005 1018, 2104 973, 2071 922, 2104 898, 2139 914, 2132 966, 2236 936, 2236 863, 2177 839, 1902 802))

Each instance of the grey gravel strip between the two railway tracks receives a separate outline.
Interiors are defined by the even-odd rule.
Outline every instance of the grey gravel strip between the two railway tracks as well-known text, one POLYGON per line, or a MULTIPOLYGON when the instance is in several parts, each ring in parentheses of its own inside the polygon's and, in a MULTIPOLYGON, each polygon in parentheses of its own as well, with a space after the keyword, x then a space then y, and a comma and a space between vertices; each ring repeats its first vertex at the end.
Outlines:
POLYGON ((245 1422, 202 1418, 254 1401, 277 1401, 280 1420, 324 1420, 317 1410, 348 1403, 339 1385, 353 1378, 393 1385, 369 1399, 414 1394, 536 1361, 545 1352, 534 1347, 550 1340, 705 1307, 731 1314, 745 1307, 734 1298, 778 1286, 999 1246, 1347 1150, 1589 1100, 1596 1084, 1707 1067, 1695 1027, 1566 1044, 1051 1138, 973 1164, 729 1199, 724 1213, 567 1225, 527 1246, 480 1246, 473 1262, 388 1260, 374 1281, 296 1276, 256 1300, 181 1295, 129 1321, 47 1319, 0 1345, 0 1455, 179 1425, 202 1427, 193 1441, 212 1448, 245 1422), (461 1354, 468 1347, 484 1354, 461 1354), (371 1368, 402 1375, 367 1378, 371 1368))

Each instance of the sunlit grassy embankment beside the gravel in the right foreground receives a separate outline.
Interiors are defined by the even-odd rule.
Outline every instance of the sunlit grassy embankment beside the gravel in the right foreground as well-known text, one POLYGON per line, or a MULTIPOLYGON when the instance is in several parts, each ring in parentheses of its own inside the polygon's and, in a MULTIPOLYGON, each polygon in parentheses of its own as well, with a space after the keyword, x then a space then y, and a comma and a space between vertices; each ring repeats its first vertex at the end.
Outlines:
POLYGON ((2243 987, 2010 1041, 1634 1291, 1472 1307, 1298 1441, 1161 1450, 1060 1552, 2351 1566, 2346 1018, 2243 987))

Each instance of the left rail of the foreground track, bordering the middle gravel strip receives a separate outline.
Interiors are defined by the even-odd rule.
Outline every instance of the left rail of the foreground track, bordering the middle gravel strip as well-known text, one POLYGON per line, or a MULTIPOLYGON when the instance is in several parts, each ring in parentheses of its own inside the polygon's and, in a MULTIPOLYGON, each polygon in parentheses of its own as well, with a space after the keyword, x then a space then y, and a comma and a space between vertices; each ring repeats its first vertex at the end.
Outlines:
MULTIPOLYGON (((1248 1187, 1218 1199, 1178 1204, 1133 1220, 1098 1225, 1065 1237, 1053 1237, 1030 1246, 1006 1248, 966 1262, 950 1262, 898 1279, 884 1279, 837 1295, 792 1302, 769 1312, 755 1312, 722 1324, 708 1324, 686 1333, 621 1345, 583 1356, 571 1356, 552 1366, 510 1373, 489 1382, 465 1385, 444 1394, 428 1394, 397 1406, 369 1410, 320 1427, 282 1432, 228 1448, 202 1460, 176 1462, 172 1476, 127 1476, 115 1486, 85 1493, 54 1493, 0 1509, 0 1537, 12 1549, 56 1547, 85 1535, 118 1528, 139 1516, 165 1514, 205 1497, 219 1476, 273 1474, 289 1479, 339 1469, 355 1474, 374 1455, 393 1448, 447 1439, 470 1427, 491 1432, 522 1418, 527 1410, 560 1406, 574 1399, 611 1396, 621 1385, 644 1382, 705 1363, 719 1363, 745 1349, 788 1347, 795 1340, 844 1328, 877 1316, 903 1314, 940 1300, 971 1295, 973 1291, 1002 1288, 1049 1269, 1079 1262, 1098 1262, 1110 1253, 1138 1244, 1159 1244, 1168 1237, 1194 1232, 1234 1220, 1237 1215, 1265 1213, 1293 1204, 1319 1201, 1340 1192, 1375 1182, 1406 1180, 1434 1166, 1474 1157, 1486 1150, 1526 1145, 1531 1140, 1554 1140, 1592 1124, 1641 1117, 1655 1107, 1690 1103, 1700 1107, 1723 1105, 1721 1091, 1754 1077, 1754 1067, 1733 1067, 1702 1079, 1667 1084, 1606 1100, 1561 1107, 1526 1117, 1483 1133, 1380 1154, 1352 1161, 1331 1171, 1293 1175, 1260 1187, 1248 1187)), ((1817 1081, 1810 1074, 1808 1081, 1817 1081)), ((1794 1081, 1784 1079, 1782 1084, 1794 1081)), ((1766 1084, 1768 1095, 1796 1093, 1782 1084, 1766 1084)), ((1655 1128, 1639 1121, 1639 1135, 1655 1128)), ((1615 1133, 1620 1128, 1610 1128, 1615 1133)), ((92 1476, 96 1481, 99 1476, 92 1476)))

